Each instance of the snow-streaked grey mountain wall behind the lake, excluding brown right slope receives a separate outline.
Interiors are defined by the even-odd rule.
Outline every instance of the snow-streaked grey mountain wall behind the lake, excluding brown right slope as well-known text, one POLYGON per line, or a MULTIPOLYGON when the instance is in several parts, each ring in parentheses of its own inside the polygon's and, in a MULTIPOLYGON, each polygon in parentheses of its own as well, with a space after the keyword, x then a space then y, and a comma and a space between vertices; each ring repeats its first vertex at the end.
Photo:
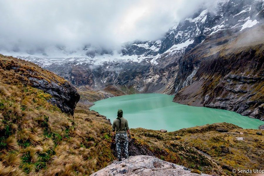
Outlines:
POLYGON ((263 19, 264 0, 220 0, 216 8, 200 9, 176 23, 160 40, 126 43, 119 52, 86 45, 70 53, 60 48, 67 56, 0 53, 34 62, 77 86, 118 84, 140 92, 173 93, 179 60, 188 51, 207 38, 243 32, 262 24, 263 19))

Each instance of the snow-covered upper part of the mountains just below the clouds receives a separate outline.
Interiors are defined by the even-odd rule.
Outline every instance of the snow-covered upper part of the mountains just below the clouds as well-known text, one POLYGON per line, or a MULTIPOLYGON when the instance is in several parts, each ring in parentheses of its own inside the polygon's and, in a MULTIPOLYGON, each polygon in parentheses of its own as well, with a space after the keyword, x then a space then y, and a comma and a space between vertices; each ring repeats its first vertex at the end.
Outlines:
MULTIPOLYGON (((28 55, 1 51, 48 67, 56 64, 100 64, 102 62, 130 61, 157 64, 164 56, 185 53, 207 36, 221 31, 242 31, 263 22, 263 0, 225 0, 219 1, 216 9, 201 9, 193 16, 175 24, 164 38, 157 41, 136 41, 123 46, 121 52, 94 50, 84 46, 83 50, 66 53, 56 58, 42 55, 28 55)), ((63 50, 63 49, 62 49, 63 50)))

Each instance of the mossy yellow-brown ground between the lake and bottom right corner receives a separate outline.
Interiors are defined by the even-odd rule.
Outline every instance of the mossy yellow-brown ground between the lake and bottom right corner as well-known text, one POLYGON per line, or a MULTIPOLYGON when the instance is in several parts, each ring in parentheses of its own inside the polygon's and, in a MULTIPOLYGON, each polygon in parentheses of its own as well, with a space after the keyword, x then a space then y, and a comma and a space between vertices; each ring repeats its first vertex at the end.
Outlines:
MULTIPOLYGON (((242 129, 229 123, 184 128, 163 133, 136 128, 134 138, 144 141, 156 157, 210 175, 247 175, 233 169, 263 169, 263 130, 242 129)), ((250 174, 249 174, 250 175, 250 174)))

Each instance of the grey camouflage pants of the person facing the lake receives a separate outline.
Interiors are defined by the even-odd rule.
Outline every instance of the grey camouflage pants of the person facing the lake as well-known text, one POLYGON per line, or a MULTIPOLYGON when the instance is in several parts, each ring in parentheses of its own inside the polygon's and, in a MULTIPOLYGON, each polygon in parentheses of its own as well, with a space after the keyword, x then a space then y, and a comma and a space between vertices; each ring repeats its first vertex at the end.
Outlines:
POLYGON ((116 133, 116 152, 119 160, 121 160, 121 148, 125 151, 125 158, 128 158, 128 138, 126 133, 116 133))

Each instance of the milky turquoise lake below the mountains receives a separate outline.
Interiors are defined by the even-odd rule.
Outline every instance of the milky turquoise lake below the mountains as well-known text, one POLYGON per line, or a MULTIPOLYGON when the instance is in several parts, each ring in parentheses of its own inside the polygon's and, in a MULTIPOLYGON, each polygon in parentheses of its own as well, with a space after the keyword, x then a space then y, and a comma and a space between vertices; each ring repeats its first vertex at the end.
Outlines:
POLYGON ((227 122, 242 128, 258 129, 264 121, 251 119, 236 112, 205 107, 187 106, 172 102, 173 96, 166 94, 133 94, 111 97, 94 102, 91 110, 97 111, 113 122, 117 110, 123 110, 123 117, 130 128, 166 129, 227 122))

